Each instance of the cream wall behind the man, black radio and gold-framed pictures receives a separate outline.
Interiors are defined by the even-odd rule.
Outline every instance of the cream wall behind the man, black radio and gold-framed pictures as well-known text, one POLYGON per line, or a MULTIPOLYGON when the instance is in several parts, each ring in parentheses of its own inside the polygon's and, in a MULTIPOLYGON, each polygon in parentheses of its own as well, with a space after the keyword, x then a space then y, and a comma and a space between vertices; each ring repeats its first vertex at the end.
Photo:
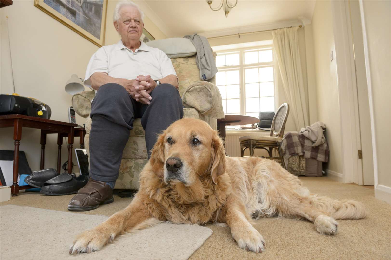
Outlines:
MULTIPOLYGON (((108 2, 105 44, 119 40, 113 27, 112 14, 115 1, 108 2)), ((16 92, 22 96, 34 97, 47 103, 52 109, 50 119, 68 122, 68 107, 71 95, 65 90, 65 82, 70 75, 84 77, 91 55, 98 49, 96 45, 59 23, 34 6, 33 0, 14 1, 12 5, 0 9, 0 93, 13 93, 11 61, 7 35, 7 20, 11 41, 13 73, 16 92)), ((149 20, 144 19, 145 28, 157 39, 165 35, 149 20)), ((76 115, 78 124, 85 119, 76 115)), ((40 131, 23 128, 20 151, 25 151, 31 170, 39 170, 40 131)), ((74 148, 79 148, 75 138, 74 148)), ((0 149, 13 150, 13 130, 0 129, 0 149)), ((62 149, 62 163, 67 160, 67 149, 62 149)), ((57 136, 48 135, 45 167, 55 167, 57 162, 57 136)), ((73 157, 76 160, 75 156, 73 157)), ((75 172, 78 172, 75 167, 75 172)))

